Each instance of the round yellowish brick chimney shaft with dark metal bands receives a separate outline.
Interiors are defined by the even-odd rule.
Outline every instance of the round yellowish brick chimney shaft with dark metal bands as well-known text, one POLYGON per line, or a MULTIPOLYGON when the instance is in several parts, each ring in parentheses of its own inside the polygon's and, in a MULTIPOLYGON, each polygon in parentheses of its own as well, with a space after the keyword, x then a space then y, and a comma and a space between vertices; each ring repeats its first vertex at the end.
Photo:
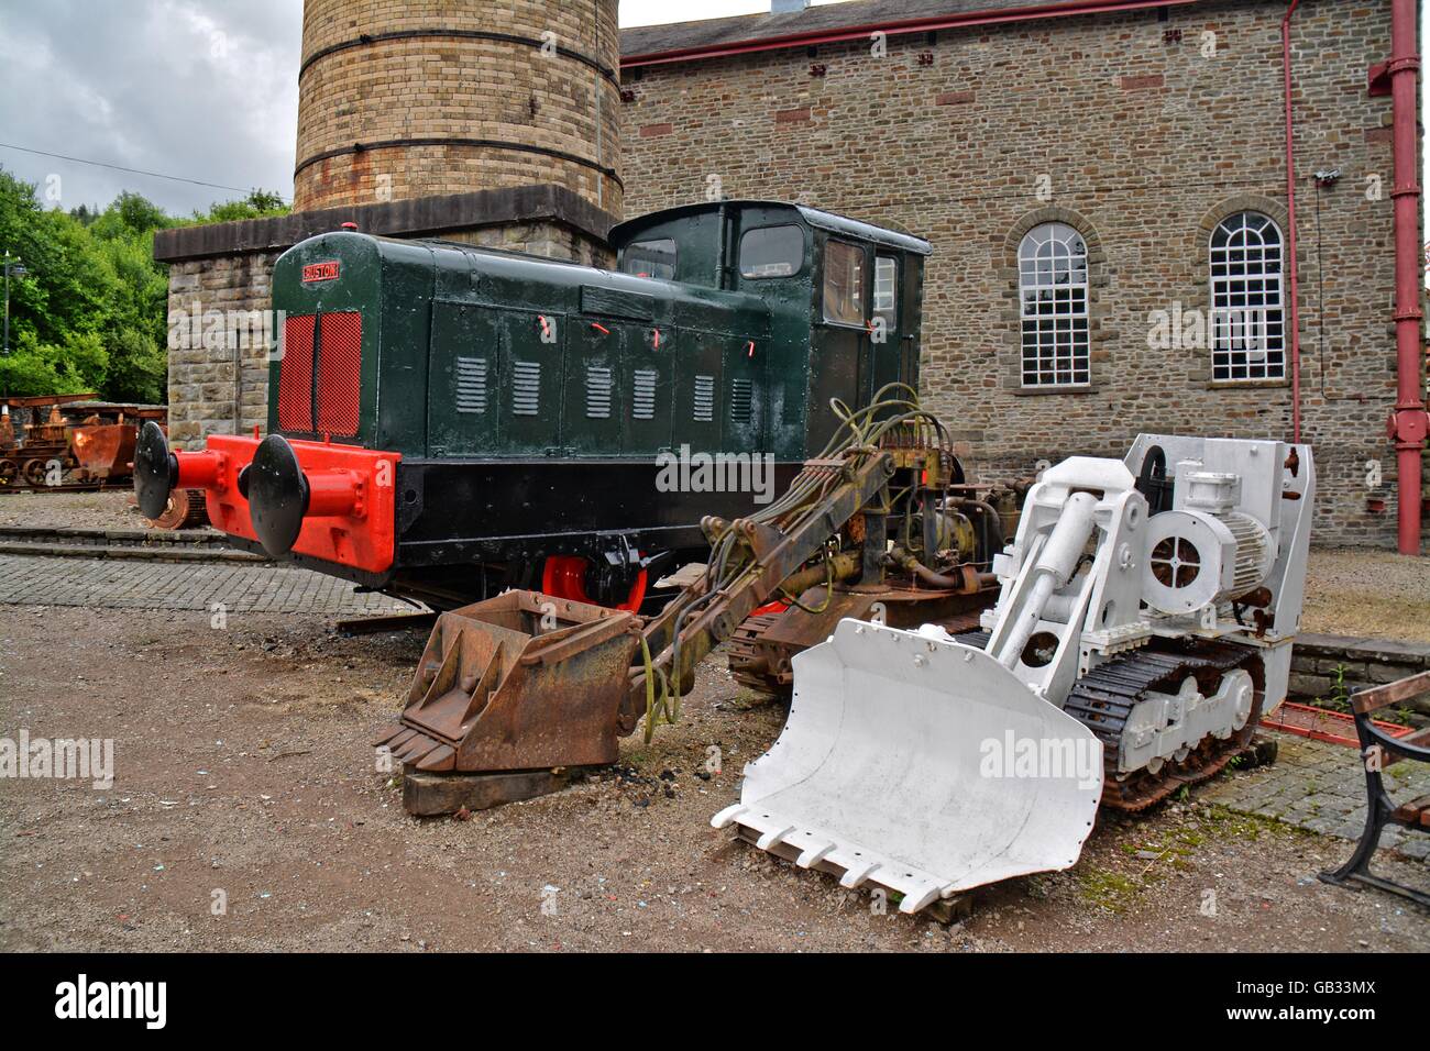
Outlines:
POLYGON ((616 0, 307 0, 295 207, 559 183, 619 216, 618 51, 616 0), (350 152, 432 139, 488 144, 350 152))

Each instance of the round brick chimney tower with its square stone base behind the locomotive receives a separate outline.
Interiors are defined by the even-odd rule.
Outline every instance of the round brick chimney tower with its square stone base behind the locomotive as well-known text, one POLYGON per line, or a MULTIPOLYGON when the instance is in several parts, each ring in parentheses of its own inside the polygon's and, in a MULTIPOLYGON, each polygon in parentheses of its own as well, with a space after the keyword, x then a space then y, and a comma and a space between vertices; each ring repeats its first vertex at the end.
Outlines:
MULTIPOLYGON (((623 196, 616 4, 306 0, 293 214, 160 230, 170 319, 267 310, 279 255, 347 223, 609 266, 623 196)), ((265 426, 267 346, 196 343, 192 327, 170 332, 170 439, 265 426)))

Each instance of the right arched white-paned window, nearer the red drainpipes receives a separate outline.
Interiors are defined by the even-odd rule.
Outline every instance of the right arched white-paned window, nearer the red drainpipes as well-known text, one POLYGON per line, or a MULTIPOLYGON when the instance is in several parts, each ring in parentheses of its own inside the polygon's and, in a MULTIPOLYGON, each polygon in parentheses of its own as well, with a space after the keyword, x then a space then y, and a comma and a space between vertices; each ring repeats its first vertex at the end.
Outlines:
POLYGON ((1211 378, 1286 379, 1281 230, 1237 212, 1211 232, 1211 378))

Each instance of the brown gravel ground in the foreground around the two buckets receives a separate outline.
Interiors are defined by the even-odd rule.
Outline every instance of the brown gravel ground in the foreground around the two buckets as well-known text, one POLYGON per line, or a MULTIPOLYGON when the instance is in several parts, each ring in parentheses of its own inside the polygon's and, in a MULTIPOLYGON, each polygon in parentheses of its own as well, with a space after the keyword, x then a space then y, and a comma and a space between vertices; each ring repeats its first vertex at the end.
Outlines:
POLYGON ((199 613, 0 606, 0 736, 113 738, 117 765, 107 791, 0 781, 0 948, 1430 949, 1414 907, 1314 879, 1346 841, 1195 792, 1104 815, 1074 869, 991 888, 951 928, 872 914, 709 828, 782 722, 718 661, 682 721, 625 741, 616 771, 418 821, 368 745, 422 642, 269 615, 214 631, 199 613), (711 745, 724 769, 704 781, 711 745))

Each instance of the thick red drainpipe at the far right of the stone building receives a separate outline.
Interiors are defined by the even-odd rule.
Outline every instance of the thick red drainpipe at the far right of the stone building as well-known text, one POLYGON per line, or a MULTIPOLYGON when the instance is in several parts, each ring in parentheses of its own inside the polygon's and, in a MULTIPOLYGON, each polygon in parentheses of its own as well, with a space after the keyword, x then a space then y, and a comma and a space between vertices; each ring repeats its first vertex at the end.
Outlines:
POLYGON ((1396 187, 1396 410, 1387 430, 1396 442, 1400 553, 1420 553, 1420 450, 1426 443, 1426 406, 1420 400, 1420 179, 1416 127, 1416 0, 1391 0, 1390 97, 1393 106, 1396 187))

